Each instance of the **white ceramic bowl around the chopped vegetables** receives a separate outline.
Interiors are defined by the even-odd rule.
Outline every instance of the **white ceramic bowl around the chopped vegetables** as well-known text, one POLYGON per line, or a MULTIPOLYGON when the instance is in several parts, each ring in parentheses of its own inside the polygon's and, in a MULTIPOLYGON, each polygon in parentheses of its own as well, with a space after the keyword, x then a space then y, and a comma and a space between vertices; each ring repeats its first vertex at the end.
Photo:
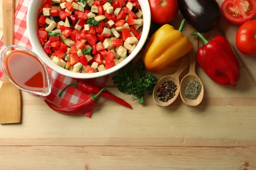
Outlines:
POLYGON ((106 71, 101 71, 101 72, 96 72, 91 74, 83 74, 83 73, 75 73, 72 71, 68 71, 56 65, 54 62, 52 62, 52 60, 44 52, 44 49, 41 46, 37 36, 37 29, 38 29, 37 16, 38 16, 38 10, 42 8, 41 4, 43 0, 31 0, 29 3, 28 13, 27 13, 27 29, 29 34, 29 40, 31 42, 33 50, 43 60, 43 62, 47 66, 49 66, 49 68, 68 77, 73 77, 78 79, 90 79, 90 78, 102 77, 102 76, 111 74, 114 71, 117 71, 120 68, 124 67, 129 62, 131 62, 131 60, 134 59, 134 57, 140 52, 141 48, 143 47, 148 37, 148 32, 149 32, 150 22, 151 22, 150 7, 148 4, 148 0, 138 0, 138 1, 140 3, 140 7, 143 12, 143 31, 142 31, 140 41, 137 47, 134 49, 134 51, 124 61, 114 66, 113 68, 110 68, 106 71))

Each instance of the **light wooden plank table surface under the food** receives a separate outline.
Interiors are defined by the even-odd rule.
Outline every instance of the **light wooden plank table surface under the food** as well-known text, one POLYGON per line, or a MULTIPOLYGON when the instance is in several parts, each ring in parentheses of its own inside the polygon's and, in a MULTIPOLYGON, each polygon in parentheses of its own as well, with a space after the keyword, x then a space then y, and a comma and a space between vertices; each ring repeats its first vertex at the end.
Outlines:
MULTIPOLYGON (((206 35, 217 34, 218 28, 206 35)), ((256 170, 256 85, 240 65, 236 88, 216 85, 197 65, 205 96, 196 108, 180 97, 168 108, 157 107, 151 96, 139 105, 134 96, 108 88, 133 109, 100 99, 89 119, 56 113, 22 92, 22 123, 0 125, 0 170, 256 170)), ((111 76, 106 85, 113 85, 111 76)))

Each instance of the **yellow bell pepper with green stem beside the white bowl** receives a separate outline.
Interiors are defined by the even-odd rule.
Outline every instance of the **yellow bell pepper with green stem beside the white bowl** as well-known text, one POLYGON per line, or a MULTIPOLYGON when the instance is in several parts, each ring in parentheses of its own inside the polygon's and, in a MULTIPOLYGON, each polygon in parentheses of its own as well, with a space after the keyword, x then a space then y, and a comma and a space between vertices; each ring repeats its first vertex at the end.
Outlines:
POLYGON ((179 30, 165 24, 152 35, 142 59, 148 70, 162 71, 192 49, 192 42, 182 34, 184 24, 182 20, 179 30))

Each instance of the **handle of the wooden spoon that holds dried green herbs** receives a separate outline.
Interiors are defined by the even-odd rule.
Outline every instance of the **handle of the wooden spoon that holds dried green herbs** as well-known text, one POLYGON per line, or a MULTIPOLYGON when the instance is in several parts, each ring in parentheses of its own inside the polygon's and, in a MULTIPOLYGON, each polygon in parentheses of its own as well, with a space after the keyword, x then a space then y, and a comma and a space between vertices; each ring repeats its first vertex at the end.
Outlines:
POLYGON ((192 37, 191 34, 195 29, 189 25, 188 38, 193 44, 192 50, 189 52, 189 74, 195 74, 195 63, 196 63, 196 53, 198 51, 198 37, 192 37))

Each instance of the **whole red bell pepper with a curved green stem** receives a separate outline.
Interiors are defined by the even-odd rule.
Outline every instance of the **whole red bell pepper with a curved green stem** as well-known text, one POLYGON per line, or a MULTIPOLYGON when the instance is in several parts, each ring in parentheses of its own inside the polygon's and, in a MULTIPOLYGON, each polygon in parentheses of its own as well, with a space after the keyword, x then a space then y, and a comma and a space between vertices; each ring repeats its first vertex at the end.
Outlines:
POLYGON ((204 42, 204 46, 197 51, 197 60, 205 73, 219 85, 236 87, 241 77, 239 62, 227 39, 217 36, 207 41, 196 31, 192 33, 194 35, 204 42))

